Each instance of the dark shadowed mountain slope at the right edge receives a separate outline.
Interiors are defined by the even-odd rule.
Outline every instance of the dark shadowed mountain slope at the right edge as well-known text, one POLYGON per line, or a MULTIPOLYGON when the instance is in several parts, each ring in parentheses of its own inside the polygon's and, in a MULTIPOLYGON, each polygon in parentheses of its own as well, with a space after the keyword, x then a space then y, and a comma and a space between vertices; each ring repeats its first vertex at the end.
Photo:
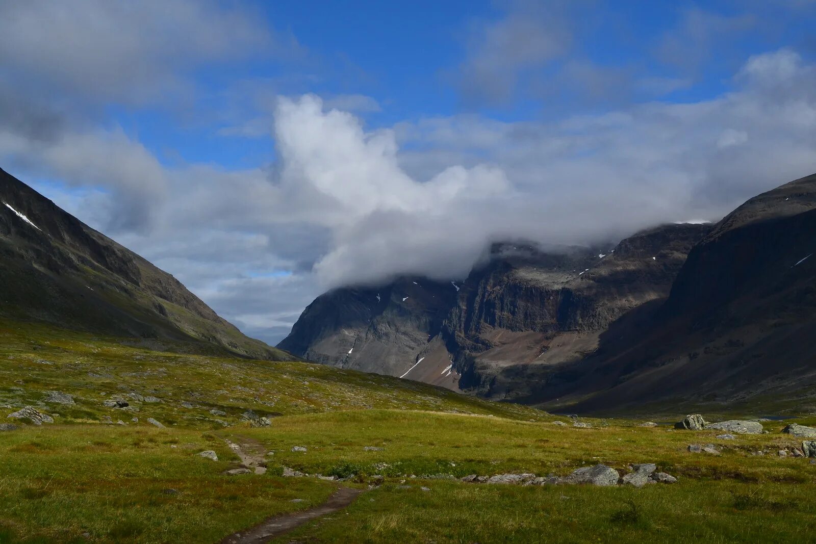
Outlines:
POLYGON ((691 251, 653 322, 637 332, 621 324, 580 369, 539 377, 528 400, 591 411, 667 400, 814 405, 814 253, 811 175, 725 217, 691 251))

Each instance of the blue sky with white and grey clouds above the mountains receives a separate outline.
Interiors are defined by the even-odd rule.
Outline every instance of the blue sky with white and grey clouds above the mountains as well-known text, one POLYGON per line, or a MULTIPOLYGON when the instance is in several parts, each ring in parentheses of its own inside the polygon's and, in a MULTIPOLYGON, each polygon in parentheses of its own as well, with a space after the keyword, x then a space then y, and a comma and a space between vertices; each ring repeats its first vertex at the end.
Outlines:
POLYGON ((268 343, 816 172, 816 0, 0 0, 0 166, 268 343))

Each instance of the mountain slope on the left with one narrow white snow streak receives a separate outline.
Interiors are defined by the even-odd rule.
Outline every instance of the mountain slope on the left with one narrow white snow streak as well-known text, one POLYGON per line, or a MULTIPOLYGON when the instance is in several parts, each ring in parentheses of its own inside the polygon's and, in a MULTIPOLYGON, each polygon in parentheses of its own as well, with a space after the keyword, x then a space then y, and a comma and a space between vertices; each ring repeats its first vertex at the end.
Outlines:
POLYGON ((244 336, 180 281, 0 170, 0 316, 116 336, 292 357, 244 336))

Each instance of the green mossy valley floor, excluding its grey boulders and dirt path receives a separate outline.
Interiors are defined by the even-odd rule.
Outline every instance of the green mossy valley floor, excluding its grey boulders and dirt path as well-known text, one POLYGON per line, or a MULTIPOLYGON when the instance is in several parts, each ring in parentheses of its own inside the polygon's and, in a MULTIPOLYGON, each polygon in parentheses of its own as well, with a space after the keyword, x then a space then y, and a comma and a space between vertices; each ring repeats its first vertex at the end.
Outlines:
POLYGON ((23 405, 60 414, 53 425, 0 433, 0 542, 219 542, 316 505, 337 485, 282 478, 282 467, 355 475, 350 485, 385 481, 277 542, 809 542, 816 531, 816 466, 776 455, 800 444, 779 432, 784 422, 736 440, 641 419, 560 427, 534 409, 397 378, 130 344, 0 323, 0 419, 23 405), (75 404, 49 404, 47 391, 75 404), (131 392, 162 401, 134 401, 138 411, 101 404, 131 392), (250 427, 247 409, 273 416, 272 427, 250 427), (268 472, 222 475, 238 462, 224 439, 262 444, 268 472), (687 451, 707 442, 721 455, 687 451), (220 460, 198 457, 203 449, 220 460), (564 475, 598 462, 622 472, 654 462, 679 481, 601 489, 429 477, 564 475))

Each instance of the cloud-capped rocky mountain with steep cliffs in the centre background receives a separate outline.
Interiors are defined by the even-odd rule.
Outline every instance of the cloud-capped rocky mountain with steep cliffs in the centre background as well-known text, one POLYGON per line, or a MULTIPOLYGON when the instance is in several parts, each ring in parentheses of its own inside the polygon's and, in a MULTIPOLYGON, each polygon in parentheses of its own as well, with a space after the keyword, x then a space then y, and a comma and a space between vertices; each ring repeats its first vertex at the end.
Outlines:
POLYGON ((663 225, 614 248, 495 244, 463 282, 400 278, 323 294, 278 347, 328 365, 524 398, 531 368, 583 358, 619 316, 665 299, 709 229, 663 225))

